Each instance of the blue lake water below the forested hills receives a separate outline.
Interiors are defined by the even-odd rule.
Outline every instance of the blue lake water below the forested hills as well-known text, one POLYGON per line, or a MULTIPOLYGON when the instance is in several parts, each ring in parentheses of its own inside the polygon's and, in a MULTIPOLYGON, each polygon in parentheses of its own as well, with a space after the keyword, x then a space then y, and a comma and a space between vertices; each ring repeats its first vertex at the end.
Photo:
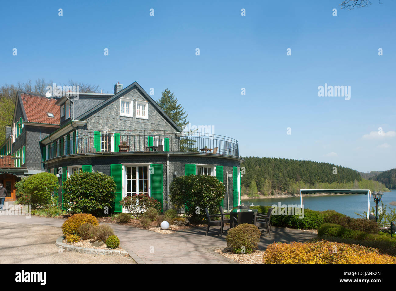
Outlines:
MULTIPOLYGON (((381 201, 378 206, 381 206, 381 202, 386 204, 388 210, 396 208, 396 206, 390 205, 389 203, 396 201, 396 190, 391 190, 390 192, 384 192, 381 201)), ((300 197, 293 198, 267 198, 267 199, 247 199, 242 200, 244 204, 253 205, 272 205, 278 203, 281 204, 300 204, 300 197)), ((350 217, 358 217, 355 214, 367 211, 367 195, 364 194, 348 194, 348 195, 329 195, 329 196, 307 196, 303 197, 303 204, 305 208, 324 211, 328 209, 333 209, 339 213, 346 214, 350 217)), ((371 195, 370 209, 374 206, 375 202, 373 195, 371 195)), ((375 212, 374 212, 375 214, 375 212)))

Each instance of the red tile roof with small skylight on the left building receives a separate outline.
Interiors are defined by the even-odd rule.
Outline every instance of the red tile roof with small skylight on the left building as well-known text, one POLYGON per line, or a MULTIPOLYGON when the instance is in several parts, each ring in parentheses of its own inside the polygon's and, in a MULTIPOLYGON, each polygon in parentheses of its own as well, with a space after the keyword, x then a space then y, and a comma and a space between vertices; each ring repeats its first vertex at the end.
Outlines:
POLYGON ((21 93, 21 99, 28 122, 61 124, 61 112, 59 106, 55 105, 56 99, 26 93, 21 93), (53 113, 54 117, 48 117, 47 112, 53 113))

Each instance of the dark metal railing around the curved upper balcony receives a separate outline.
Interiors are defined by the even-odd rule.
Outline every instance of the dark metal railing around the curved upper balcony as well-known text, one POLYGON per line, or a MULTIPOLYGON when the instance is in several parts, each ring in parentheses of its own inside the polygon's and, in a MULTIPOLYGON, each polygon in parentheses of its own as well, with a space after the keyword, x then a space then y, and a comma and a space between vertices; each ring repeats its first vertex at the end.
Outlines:
POLYGON ((196 152, 239 156, 238 141, 222 135, 203 133, 128 133, 128 132, 98 132, 79 133, 76 140, 63 138, 51 143, 47 149, 45 160, 68 156, 71 154, 94 154, 105 152, 196 152))

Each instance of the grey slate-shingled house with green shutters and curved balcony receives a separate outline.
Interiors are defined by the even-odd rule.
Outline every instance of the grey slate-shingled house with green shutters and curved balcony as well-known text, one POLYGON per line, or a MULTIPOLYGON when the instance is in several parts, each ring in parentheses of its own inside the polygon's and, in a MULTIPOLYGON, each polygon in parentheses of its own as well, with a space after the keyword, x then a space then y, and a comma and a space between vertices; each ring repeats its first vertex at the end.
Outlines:
POLYGON ((60 127, 36 142, 42 169, 59 173, 60 184, 76 171, 99 171, 116 182, 115 212, 123 211, 123 197, 136 194, 156 198, 166 210, 173 177, 213 175, 226 186, 228 179, 225 208, 240 204, 238 142, 200 133, 186 137, 137 82, 116 84, 114 94, 62 97, 55 105, 60 127), (211 150, 200 151, 205 147, 211 150))

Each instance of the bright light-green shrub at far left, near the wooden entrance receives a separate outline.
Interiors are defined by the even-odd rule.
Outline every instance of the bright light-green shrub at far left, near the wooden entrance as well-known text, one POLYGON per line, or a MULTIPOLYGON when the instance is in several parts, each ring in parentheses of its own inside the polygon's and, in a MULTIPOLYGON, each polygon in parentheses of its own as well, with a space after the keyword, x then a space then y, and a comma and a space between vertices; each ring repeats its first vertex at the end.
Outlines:
POLYGON ((18 203, 31 204, 33 209, 51 204, 53 192, 57 192, 59 189, 58 178, 51 173, 32 175, 19 184, 18 187, 18 195, 21 195, 18 198, 18 203))

